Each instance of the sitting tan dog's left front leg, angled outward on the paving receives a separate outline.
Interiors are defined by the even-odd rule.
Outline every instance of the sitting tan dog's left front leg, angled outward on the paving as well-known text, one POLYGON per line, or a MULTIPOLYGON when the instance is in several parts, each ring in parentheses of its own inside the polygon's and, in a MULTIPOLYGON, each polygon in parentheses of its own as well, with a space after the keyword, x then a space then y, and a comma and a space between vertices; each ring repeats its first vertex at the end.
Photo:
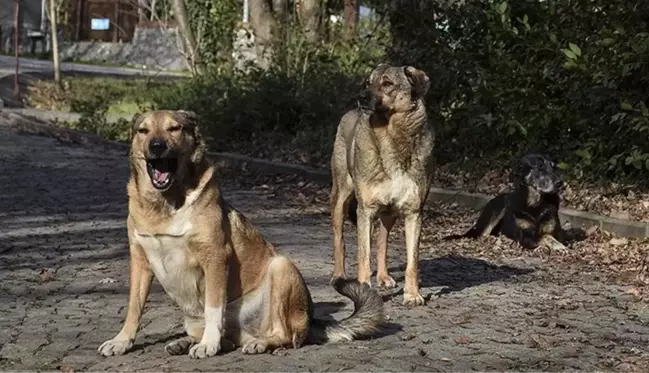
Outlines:
POLYGON ((129 258, 129 295, 126 320, 122 330, 115 338, 102 343, 97 349, 103 356, 123 355, 133 347, 133 341, 140 327, 142 310, 151 289, 153 273, 142 247, 132 243, 129 258))

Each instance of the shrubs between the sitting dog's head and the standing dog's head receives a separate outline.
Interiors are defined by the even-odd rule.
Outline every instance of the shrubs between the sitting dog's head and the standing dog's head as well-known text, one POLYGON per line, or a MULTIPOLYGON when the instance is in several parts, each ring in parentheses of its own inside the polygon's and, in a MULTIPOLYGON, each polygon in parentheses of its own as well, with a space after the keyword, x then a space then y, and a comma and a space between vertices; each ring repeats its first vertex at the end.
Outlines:
POLYGON ((196 111, 217 147, 236 150, 233 141, 249 140, 297 150, 303 160, 322 163, 340 116, 355 106, 361 82, 384 48, 370 38, 311 44, 297 29, 284 32, 288 37, 273 46, 268 70, 212 69, 158 92, 155 106, 196 111))

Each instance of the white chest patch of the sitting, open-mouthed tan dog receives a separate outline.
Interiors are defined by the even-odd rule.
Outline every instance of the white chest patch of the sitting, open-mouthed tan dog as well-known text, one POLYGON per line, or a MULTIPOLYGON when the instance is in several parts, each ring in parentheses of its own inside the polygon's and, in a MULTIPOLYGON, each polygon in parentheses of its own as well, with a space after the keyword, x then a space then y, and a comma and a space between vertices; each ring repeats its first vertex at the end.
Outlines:
POLYGON ((191 209, 178 210, 164 233, 134 231, 156 279, 187 315, 204 312, 203 271, 188 249, 192 230, 191 209))

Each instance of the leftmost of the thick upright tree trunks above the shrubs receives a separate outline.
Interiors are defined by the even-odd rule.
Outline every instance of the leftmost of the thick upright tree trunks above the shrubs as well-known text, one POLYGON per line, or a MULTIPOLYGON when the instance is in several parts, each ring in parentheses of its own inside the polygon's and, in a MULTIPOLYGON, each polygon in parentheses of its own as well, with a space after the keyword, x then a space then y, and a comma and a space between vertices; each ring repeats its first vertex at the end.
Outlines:
POLYGON ((255 31, 257 63, 260 67, 266 68, 272 53, 271 43, 277 21, 267 0, 248 0, 248 4, 250 7, 250 24, 255 31))

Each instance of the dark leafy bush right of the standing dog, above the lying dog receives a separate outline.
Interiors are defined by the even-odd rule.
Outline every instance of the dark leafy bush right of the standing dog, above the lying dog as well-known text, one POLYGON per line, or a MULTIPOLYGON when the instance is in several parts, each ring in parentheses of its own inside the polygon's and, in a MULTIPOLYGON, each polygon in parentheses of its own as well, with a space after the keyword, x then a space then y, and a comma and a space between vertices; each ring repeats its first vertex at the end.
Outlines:
POLYGON ((543 151, 574 176, 646 176, 649 9, 636 3, 406 4, 389 14, 390 55, 431 75, 442 162, 543 151))

